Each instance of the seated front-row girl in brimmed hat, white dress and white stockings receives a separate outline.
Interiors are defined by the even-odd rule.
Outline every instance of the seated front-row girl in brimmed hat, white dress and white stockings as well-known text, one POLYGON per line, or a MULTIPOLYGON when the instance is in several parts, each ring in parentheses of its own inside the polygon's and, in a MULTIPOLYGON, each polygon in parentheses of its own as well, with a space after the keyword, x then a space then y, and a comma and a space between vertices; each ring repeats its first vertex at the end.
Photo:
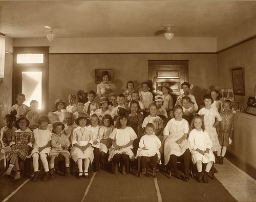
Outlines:
POLYGON ((89 178, 88 168, 90 162, 93 162, 93 133, 87 128, 87 122, 89 122, 88 116, 84 113, 79 114, 75 123, 79 125, 73 130, 71 157, 78 166, 78 179, 84 177, 89 178), (84 162, 84 170, 82 170, 82 163, 84 162))

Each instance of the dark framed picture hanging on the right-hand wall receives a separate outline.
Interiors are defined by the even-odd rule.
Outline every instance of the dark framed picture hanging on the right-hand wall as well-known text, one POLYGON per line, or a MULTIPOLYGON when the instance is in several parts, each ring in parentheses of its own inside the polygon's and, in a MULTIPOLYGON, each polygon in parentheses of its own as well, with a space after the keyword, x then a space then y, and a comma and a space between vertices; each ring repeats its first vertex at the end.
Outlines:
POLYGON ((243 68, 231 69, 234 95, 245 96, 243 68))

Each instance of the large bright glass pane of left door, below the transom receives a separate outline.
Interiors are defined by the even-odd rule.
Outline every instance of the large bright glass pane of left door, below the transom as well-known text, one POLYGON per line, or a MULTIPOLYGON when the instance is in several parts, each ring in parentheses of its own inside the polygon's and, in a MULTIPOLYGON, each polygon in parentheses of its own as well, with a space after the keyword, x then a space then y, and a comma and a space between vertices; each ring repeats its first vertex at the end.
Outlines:
POLYGON ((22 93, 26 96, 24 104, 30 106, 31 100, 38 101, 42 108, 42 72, 22 72, 22 93))

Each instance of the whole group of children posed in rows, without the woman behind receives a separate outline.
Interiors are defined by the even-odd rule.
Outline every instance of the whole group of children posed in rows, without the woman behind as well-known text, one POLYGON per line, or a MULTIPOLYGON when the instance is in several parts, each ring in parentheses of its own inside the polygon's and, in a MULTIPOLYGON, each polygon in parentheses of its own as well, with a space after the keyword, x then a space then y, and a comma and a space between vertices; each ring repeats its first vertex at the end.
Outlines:
MULTIPOLYGON (((207 183, 207 174, 212 163, 223 164, 226 148, 233 132, 231 103, 222 103, 223 111, 213 108, 211 95, 203 97, 205 107, 198 111, 195 97, 188 93, 189 83, 182 84, 184 94, 179 96, 174 107, 169 83, 159 86, 162 96, 148 91, 148 83, 142 83, 142 91, 133 90, 133 81, 127 82, 127 91, 119 95, 100 96, 100 103, 94 101, 97 94, 88 92, 88 102, 76 102, 74 94, 69 95, 69 105, 58 99, 56 110, 47 115, 37 112, 38 102, 32 100, 30 107, 23 104, 25 95, 17 96, 17 104, 4 117, 6 126, 1 129, 1 152, 10 161, 5 176, 15 170, 14 182, 20 179, 18 158, 23 161, 33 158, 34 176, 38 180, 38 160, 44 167, 44 181, 54 175, 56 156, 65 158, 66 173, 70 174, 70 157, 78 166, 78 179, 89 178, 90 163, 95 171, 99 165, 105 168, 114 163, 114 174, 126 174, 126 163, 141 156, 142 173, 146 174, 149 158, 153 176, 157 164, 172 164, 177 178, 177 156, 190 158, 198 170, 198 182, 207 183), (219 113, 220 112, 220 113, 219 113), (15 128, 13 125, 16 124, 15 128), (214 154, 215 152, 215 154, 214 154), (50 166, 47 161, 50 156, 50 166), (100 162, 100 164, 99 164, 100 162), (173 163, 175 162, 175 163, 173 163), (206 163, 204 174, 202 163, 206 163)), ((189 165, 189 163, 188 163, 189 165)), ((185 165, 185 179, 189 180, 185 165)))

